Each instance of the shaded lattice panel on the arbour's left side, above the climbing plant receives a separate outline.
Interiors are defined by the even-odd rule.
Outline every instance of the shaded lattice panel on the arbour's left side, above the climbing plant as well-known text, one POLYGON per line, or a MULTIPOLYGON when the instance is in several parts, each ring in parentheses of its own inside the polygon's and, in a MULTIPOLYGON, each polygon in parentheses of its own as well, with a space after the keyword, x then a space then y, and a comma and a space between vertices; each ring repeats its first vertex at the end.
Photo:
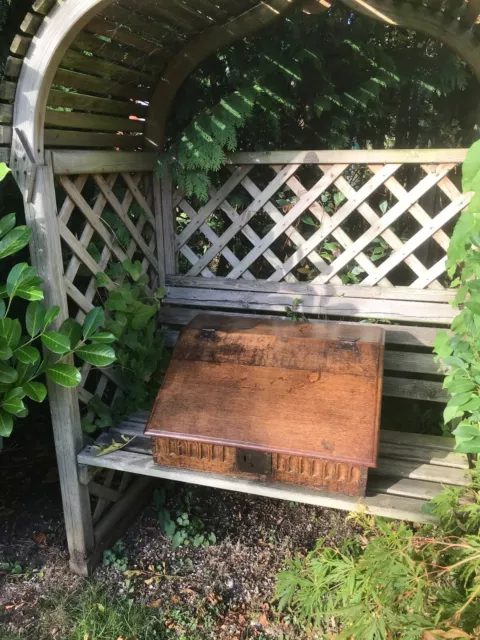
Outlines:
MULTIPOLYGON (((151 173, 58 175, 58 225, 70 316, 82 322, 101 303, 96 274, 114 263, 140 260, 152 287, 158 285, 151 173)), ((114 370, 82 367, 80 400, 93 395, 107 404, 121 393, 114 370)))

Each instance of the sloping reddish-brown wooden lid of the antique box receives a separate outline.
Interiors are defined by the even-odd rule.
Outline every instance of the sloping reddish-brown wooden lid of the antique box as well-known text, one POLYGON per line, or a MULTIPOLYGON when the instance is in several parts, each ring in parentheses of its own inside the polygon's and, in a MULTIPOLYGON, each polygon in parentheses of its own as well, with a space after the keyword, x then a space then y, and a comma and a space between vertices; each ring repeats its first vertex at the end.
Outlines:
POLYGON ((146 434, 373 467, 383 345, 375 325, 200 314, 146 434))

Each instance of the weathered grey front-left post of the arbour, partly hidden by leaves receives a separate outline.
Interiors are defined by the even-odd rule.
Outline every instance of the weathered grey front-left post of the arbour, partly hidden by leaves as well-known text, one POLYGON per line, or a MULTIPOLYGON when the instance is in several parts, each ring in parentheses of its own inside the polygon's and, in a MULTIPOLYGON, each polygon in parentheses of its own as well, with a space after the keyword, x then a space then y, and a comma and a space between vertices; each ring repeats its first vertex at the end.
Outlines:
MULTIPOLYGON (((12 170, 22 187, 22 176, 12 158, 12 170)), ((24 158, 22 159, 24 162, 24 158)), ((57 204, 51 153, 46 163, 30 168, 35 182, 25 203, 25 217, 32 228, 32 263, 44 280, 45 304, 60 307, 57 323, 68 317, 67 295, 63 279, 62 247, 57 223, 57 204)), ((29 172, 26 172, 29 174, 29 172)), ((24 193, 25 193, 25 189, 24 193)), ((81 575, 87 573, 87 558, 93 551, 94 537, 88 488, 79 482, 77 454, 83 448, 83 435, 75 389, 48 384, 55 449, 62 490, 65 528, 70 565, 81 575)))

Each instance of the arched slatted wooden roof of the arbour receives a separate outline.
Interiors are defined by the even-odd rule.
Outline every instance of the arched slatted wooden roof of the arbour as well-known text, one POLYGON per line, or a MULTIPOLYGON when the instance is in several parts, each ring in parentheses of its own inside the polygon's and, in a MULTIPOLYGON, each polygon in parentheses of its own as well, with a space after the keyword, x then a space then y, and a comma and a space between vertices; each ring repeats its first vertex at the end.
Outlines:
MULTIPOLYGON (((480 79, 479 0, 336 1, 436 37, 480 79)), ((293 6, 318 13, 329 5, 330 0, 35 0, 0 85, 1 157, 8 157, 19 136, 36 164, 43 162, 45 146, 161 146, 175 94, 202 60, 293 6)))

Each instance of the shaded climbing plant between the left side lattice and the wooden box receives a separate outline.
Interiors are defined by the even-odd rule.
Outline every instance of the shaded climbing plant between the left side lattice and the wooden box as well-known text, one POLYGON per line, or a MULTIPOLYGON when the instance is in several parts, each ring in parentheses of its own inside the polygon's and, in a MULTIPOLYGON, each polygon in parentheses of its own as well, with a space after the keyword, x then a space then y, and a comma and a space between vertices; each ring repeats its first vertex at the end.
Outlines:
POLYGON ((107 406, 97 396, 90 401, 94 414, 85 420, 84 430, 93 432, 120 422, 126 415, 149 410, 158 392, 166 353, 157 332, 156 318, 162 288, 152 292, 149 277, 140 262, 126 260, 112 264, 107 273, 97 274, 97 287, 104 292, 105 328, 118 340, 114 372, 123 395, 107 406))

